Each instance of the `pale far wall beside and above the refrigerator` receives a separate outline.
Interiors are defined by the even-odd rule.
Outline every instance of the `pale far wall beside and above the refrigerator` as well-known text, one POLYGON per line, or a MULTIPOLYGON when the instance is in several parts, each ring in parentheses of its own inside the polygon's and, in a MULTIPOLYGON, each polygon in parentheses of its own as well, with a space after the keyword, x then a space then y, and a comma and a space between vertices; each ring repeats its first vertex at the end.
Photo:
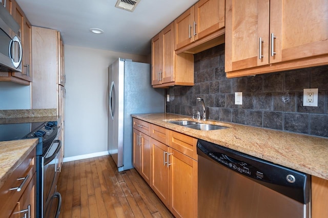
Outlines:
POLYGON ((65 158, 107 151, 108 66, 145 56, 65 45, 65 158))

